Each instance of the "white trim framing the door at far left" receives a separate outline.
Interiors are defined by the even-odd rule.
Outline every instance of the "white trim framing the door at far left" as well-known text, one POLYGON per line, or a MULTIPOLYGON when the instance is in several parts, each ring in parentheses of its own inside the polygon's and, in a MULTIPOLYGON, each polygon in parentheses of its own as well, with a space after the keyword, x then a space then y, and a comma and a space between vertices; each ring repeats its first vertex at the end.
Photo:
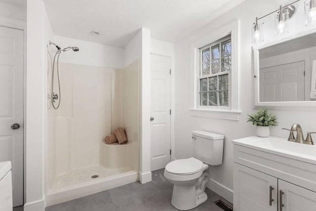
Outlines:
POLYGON ((23 31, 23 205, 26 202, 26 21, 0 17, 0 26, 23 31))

